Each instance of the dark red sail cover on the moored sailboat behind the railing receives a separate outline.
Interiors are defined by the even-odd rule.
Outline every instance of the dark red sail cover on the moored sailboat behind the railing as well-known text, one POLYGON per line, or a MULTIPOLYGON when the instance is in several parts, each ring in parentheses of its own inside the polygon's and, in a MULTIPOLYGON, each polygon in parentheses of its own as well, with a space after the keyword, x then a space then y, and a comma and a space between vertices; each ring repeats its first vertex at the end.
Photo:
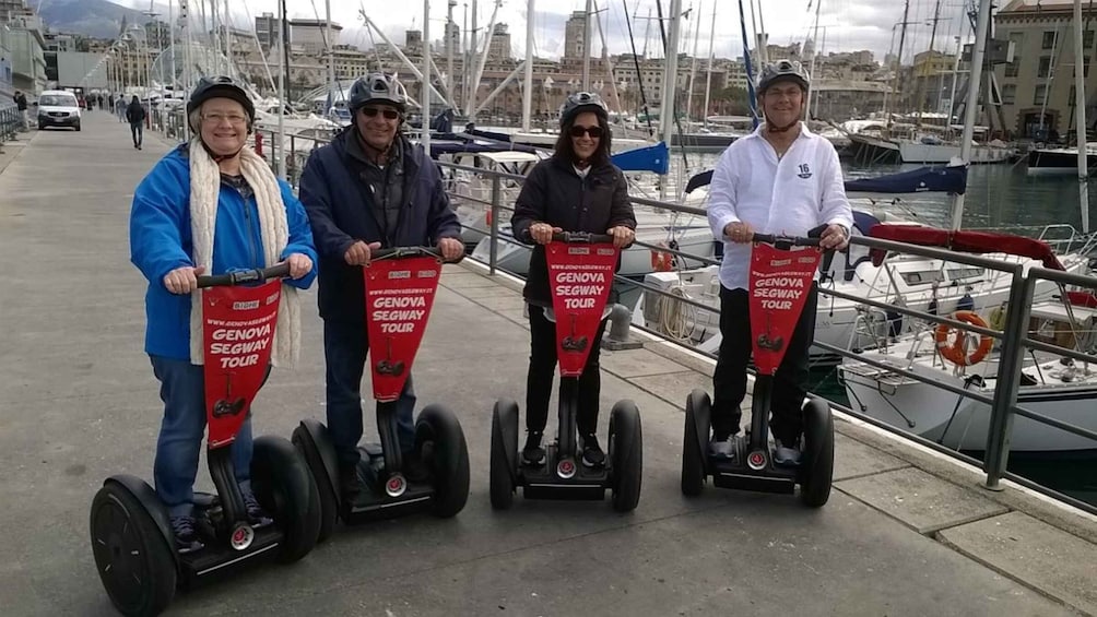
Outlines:
MULTIPOLYGON (((869 236, 881 240, 894 240, 907 244, 923 247, 940 247, 964 253, 1008 253, 1043 262, 1049 270, 1064 270, 1059 263, 1051 247, 1043 240, 1013 236, 1010 233, 992 233, 988 231, 950 231, 920 225, 874 225, 869 236)), ((886 251, 872 249, 872 264, 880 265, 886 251)))

